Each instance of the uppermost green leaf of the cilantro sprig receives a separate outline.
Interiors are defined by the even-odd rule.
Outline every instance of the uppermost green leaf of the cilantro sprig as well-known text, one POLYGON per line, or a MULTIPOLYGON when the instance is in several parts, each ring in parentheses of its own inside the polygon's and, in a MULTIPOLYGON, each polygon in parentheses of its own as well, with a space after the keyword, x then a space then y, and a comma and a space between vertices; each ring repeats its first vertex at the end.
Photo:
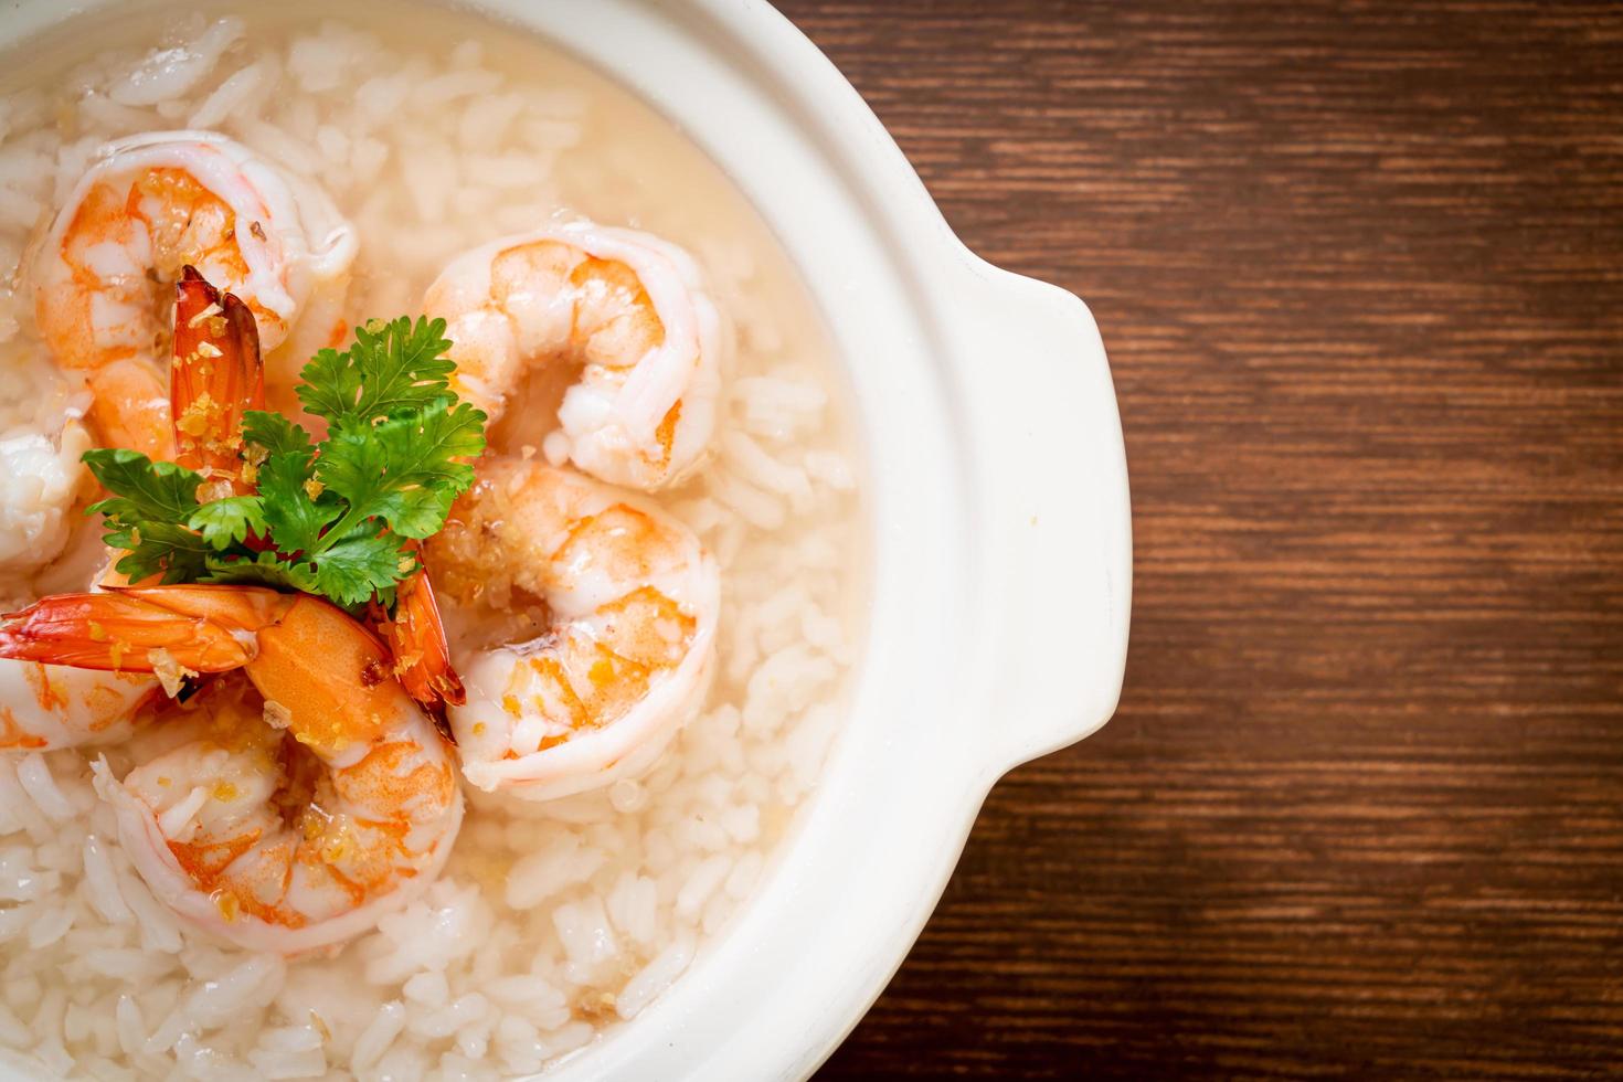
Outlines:
POLYGON ((456 370, 443 357, 450 347, 445 320, 372 321, 355 328, 347 350, 323 349, 304 367, 299 401, 334 423, 394 417, 433 401, 448 406, 450 375, 456 370))

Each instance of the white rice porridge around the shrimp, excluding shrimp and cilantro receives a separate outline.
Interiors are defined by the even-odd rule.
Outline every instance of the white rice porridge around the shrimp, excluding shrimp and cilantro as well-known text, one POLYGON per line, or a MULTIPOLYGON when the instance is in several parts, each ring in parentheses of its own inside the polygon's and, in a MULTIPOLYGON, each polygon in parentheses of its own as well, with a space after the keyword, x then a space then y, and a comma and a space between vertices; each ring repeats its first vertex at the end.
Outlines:
MULTIPOLYGON (((506 1077, 635 1019, 758 889, 816 784, 854 657, 857 470, 829 341, 789 261, 665 120, 472 16, 170 5, 81 19, 3 70, 0 440, 55 433, 84 407, 13 271, 96 148, 138 131, 216 130, 323 187, 359 232, 352 321, 417 315, 453 255, 563 214, 683 245, 737 334, 712 457, 654 496, 716 556, 722 615, 706 706, 649 774, 518 806, 464 787, 466 822, 422 900, 338 951, 286 960, 193 934, 153 899, 91 788, 96 753, 11 746, 3 1054, 97 1079, 506 1077), (175 47, 187 52, 154 62, 175 47)), ((527 432, 505 420, 495 448, 523 453, 555 397, 526 389, 510 417, 527 432)), ((37 498, 10 482, 8 506, 37 498)), ((88 586, 104 555, 94 524, 6 521, 6 605, 88 586), (19 573, 19 545, 62 556, 19 573)), ((451 623, 459 650, 489 636, 451 623)), ((123 746, 105 754, 128 769, 123 746)))

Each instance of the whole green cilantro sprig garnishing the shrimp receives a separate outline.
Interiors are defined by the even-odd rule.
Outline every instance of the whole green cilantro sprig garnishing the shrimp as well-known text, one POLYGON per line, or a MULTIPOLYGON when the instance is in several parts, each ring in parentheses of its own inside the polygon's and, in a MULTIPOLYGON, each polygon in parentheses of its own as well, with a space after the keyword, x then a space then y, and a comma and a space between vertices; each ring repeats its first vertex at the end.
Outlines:
POLYGON ((464 459, 485 448, 485 415, 456 399, 445 320, 401 316, 355 328, 344 352, 323 349, 300 371, 304 407, 326 438, 281 414, 242 420, 242 482, 252 495, 203 498, 201 474, 138 451, 84 454, 112 493, 89 508, 127 550, 131 581, 252 582, 321 594, 346 608, 394 602, 417 569, 414 542, 443 526, 474 483, 464 459))

